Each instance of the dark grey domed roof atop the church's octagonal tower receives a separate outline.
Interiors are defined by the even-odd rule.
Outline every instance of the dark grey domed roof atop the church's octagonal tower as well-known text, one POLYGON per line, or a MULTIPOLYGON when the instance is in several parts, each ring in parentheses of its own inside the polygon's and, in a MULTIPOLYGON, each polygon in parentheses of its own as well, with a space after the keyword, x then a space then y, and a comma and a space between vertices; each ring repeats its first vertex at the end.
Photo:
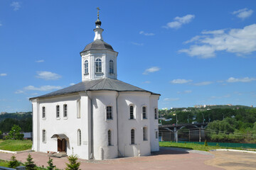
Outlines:
POLYGON ((91 42, 90 44, 85 46, 85 49, 82 50, 82 52, 88 51, 88 50, 112 50, 114 51, 113 47, 107 42, 104 42, 102 40, 95 40, 91 42))

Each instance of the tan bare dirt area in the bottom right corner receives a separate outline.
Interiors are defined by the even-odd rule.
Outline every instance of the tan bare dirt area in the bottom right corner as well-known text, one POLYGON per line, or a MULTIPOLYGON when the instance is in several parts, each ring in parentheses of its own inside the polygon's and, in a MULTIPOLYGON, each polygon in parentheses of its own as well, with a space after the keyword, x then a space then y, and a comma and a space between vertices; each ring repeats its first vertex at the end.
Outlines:
POLYGON ((205 164, 227 170, 256 169, 256 154, 233 151, 214 151, 214 159, 208 159, 205 164))

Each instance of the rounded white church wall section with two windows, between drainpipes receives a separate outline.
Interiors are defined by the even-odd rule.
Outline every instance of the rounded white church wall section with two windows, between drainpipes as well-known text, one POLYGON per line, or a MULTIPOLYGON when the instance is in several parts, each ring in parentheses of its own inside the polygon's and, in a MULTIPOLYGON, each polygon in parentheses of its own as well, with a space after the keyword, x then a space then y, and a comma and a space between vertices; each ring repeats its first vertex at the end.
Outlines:
POLYGON ((97 91, 92 93, 93 152, 95 159, 118 157, 116 96, 117 92, 115 91, 97 91), (112 106, 112 120, 107 120, 107 106, 112 106), (111 130, 111 146, 108 146, 108 130, 111 130))

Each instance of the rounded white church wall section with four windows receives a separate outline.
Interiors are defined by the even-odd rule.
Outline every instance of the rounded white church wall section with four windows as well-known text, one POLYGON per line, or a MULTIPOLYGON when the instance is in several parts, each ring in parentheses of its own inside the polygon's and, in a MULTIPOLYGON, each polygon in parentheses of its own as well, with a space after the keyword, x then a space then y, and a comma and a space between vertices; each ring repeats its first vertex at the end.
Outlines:
POLYGON ((149 93, 122 92, 118 97, 119 152, 122 157, 137 157, 151 154, 149 125, 149 93), (135 119, 129 119, 129 106, 134 106, 135 119), (142 106, 147 108, 147 119, 142 119, 142 106), (147 139, 143 140, 143 127, 147 130, 147 139), (135 144, 131 144, 131 130, 135 130, 135 144))

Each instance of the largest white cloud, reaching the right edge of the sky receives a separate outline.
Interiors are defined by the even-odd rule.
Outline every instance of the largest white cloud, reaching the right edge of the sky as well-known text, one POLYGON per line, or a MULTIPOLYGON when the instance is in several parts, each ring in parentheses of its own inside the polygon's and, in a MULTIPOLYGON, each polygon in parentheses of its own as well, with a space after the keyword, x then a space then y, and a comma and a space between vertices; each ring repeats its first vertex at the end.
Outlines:
POLYGON ((215 52, 225 51, 236 55, 249 55, 256 51, 256 24, 245 26, 242 29, 204 30, 203 35, 196 35, 184 43, 193 42, 188 49, 178 52, 185 52, 191 57, 199 58, 215 57, 215 52))

